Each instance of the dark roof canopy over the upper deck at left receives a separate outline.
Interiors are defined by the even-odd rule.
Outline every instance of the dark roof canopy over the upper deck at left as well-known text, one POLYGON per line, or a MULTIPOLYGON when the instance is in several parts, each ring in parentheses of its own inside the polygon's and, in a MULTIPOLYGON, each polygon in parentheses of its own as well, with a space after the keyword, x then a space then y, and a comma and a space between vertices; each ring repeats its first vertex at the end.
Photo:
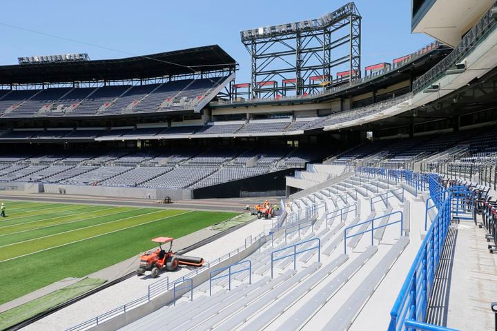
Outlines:
POLYGON ((124 59, 0 66, 0 84, 148 79, 236 68, 231 55, 211 45, 124 59))

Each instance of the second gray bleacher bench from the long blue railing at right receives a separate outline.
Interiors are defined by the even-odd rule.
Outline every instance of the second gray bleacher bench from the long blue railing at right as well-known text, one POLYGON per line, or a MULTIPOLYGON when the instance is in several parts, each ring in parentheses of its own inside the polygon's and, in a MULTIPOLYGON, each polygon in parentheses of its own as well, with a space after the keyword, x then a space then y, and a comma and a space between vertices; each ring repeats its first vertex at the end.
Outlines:
MULTIPOLYGON (((327 281, 324 288, 314 294, 311 300, 294 312, 292 316, 284 321, 277 331, 300 330, 300 328, 311 319, 318 310, 322 308, 335 295, 342 286, 353 277, 364 263, 378 251, 376 246, 371 246, 358 257, 356 257, 349 265, 347 265, 337 276, 327 281)), ((324 328, 323 330, 336 330, 335 328, 324 328)))

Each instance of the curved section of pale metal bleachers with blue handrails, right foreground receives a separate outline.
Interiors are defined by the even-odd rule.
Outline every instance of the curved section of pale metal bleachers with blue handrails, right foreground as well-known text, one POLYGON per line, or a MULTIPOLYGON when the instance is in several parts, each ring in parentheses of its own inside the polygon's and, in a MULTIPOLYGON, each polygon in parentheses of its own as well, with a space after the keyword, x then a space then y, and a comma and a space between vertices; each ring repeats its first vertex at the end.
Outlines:
MULTIPOLYGON (((232 265, 231 277, 228 269, 214 272, 217 276, 211 281, 191 290, 193 301, 188 290, 184 297, 175 298, 174 305, 119 330, 347 330, 353 323, 358 324, 357 330, 370 327, 371 321, 361 324, 358 314, 378 313, 378 309, 371 313, 369 305, 376 304, 374 294, 380 286, 389 290, 381 291, 379 299, 394 301, 403 279, 391 277, 388 284, 384 279, 392 268, 405 268, 407 263, 396 261, 416 249, 399 231, 405 223, 399 223, 394 214, 404 208, 405 199, 414 198, 411 194, 394 197, 388 207, 384 201, 376 206, 369 203, 377 194, 398 189, 398 183, 387 185, 355 174, 289 199, 286 217, 273 224, 273 236, 244 260, 251 261, 250 268, 244 263, 232 265), (351 183, 378 190, 364 196, 358 190, 349 199, 340 199, 344 186, 351 183)), ((387 328, 390 308, 380 307, 381 314, 373 316, 376 326, 387 328)))

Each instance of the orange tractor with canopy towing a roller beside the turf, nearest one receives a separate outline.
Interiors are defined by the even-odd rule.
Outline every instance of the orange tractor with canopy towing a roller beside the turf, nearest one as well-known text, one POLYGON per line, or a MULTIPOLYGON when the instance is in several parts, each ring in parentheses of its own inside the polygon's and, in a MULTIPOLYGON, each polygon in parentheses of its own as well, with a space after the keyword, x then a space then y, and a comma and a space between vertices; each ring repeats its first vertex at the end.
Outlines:
POLYGON ((150 270, 150 275, 155 278, 159 275, 159 271, 165 268, 168 271, 175 271, 178 265, 193 265, 200 267, 204 264, 202 257, 186 257, 184 255, 176 255, 173 252, 173 238, 159 237, 152 239, 153 242, 159 243, 159 248, 154 252, 146 252, 140 257, 140 264, 137 269, 137 275, 142 276, 147 270, 150 270), (169 250, 166 252, 162 249, 163 243, 170 243, 169 250))

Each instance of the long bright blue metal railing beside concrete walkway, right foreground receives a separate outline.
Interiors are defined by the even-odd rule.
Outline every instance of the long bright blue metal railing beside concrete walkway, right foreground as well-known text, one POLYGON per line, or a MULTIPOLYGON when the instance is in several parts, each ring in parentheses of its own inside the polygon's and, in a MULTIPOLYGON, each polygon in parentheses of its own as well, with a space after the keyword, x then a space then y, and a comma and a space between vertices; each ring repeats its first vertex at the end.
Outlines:
MULTIPOLYGON (((436 191, 436 189, 433 190, 436 191)), ((447 197, 445 197, 445 192, 438 192, 445 199, 439 203, 438 214, 436 214, 425 239, 421 243, 390 312, 389 331, 407 330, 410 326, 408 327, 409 322, 405 324, 405 321, 425 321, 428 301, 433 290, 433 281, 438 271, 440 256, 451 223, 451 215, 454 213, 454 210, 451 210, 451 207, 454 206, 451 203, 451 197, 465 196, 467 192, 469 190, 460 186, 454 187, 454 190, 448 190, 447 197)), ((432 198, 433 201, 438 201, 436 197, 432 198)), ((456 208, 462 207, 459 204, 455 206, 456 208)))

